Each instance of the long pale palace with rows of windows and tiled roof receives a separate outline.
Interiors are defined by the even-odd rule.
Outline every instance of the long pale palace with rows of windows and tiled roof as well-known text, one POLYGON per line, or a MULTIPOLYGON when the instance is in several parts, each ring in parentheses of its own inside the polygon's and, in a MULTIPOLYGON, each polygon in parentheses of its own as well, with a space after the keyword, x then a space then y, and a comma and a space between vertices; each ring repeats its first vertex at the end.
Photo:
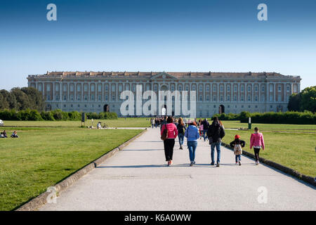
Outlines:
POLYGON ((301 77, 276 72, 46 72, 27 79, 28 86, 43 93, 46 110, 110 111, 119 116, 125 101, 119 98, 121 92, 136 93, 136 85, 156 93, 196 91, 197 117, 242 111, 284 112, 289 96, 299 93, 301 86, 301 77))

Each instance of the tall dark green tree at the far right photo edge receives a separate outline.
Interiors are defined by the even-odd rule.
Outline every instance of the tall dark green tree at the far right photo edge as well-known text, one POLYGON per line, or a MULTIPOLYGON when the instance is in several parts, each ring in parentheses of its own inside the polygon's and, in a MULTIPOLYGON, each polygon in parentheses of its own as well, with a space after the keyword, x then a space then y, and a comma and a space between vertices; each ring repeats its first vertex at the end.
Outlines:
POLYGON ((316 86, 309 86, 301 92, 302 111, 308 110, 312 113, 316 112, 316 86))

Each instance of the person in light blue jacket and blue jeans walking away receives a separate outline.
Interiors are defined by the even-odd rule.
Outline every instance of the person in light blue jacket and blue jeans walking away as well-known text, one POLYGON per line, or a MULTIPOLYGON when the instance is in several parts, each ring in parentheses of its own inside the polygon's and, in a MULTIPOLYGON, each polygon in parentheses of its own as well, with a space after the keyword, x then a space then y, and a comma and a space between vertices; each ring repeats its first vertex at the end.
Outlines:
POLYGON ((199 139, 199 130, 191 120, 187 122, 189 127, 185 130, 185 137, 187 138, 187 148, 189 148, 190 167, 195 165, 195 150, 197 149, 197 139, 199 139))

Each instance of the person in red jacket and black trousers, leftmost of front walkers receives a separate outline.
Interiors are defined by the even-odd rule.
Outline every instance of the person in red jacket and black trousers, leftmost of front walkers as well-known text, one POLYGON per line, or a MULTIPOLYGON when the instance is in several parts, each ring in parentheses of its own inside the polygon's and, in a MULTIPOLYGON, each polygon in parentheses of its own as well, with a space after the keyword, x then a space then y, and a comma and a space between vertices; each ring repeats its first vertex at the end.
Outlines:
POLYGON ((161 135, 164 132, 164 129, 167 129, 167 139, 164 140, 164 155, 166 156, 166 161, 168 162, 168 166, 172 165, 172 156, 173 156, 173 147, 174 147, 174 139, 178 136, 178 129, 175 124, 173 124, 173 118, 168 117, 166 120, 166 124, 162 124, 161 135))

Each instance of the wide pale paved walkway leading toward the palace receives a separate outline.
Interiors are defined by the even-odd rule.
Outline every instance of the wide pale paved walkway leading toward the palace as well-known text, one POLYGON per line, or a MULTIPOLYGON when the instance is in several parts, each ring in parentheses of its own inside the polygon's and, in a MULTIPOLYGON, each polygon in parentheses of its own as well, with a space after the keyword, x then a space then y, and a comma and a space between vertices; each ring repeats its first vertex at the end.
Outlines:
POLYGON ((244 156, 235 165, 223 147, 220 167, 211 166, 200 140, 189 167, 187 148, 178 147, 166 167, 159 129, 149 129, 39 210, 316 210, 315 188, 302 181, 244 156), (267 203, 258 203, 261 186, 267 203))

